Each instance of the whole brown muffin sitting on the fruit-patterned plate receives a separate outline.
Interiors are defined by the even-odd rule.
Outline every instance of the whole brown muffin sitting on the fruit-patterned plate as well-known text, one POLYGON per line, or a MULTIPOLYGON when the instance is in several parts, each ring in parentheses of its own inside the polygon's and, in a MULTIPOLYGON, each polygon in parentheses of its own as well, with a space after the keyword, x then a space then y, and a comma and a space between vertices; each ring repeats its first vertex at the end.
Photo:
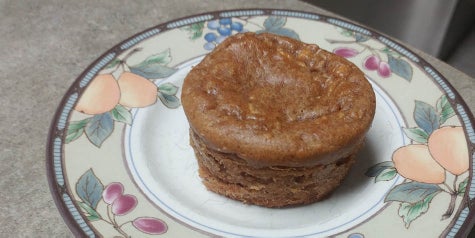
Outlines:
POLYGON ((312 203, 336 189, 376 107, 354 64, 268 33, 219 44, 186 76, 181 101, 204 185, 265 207, 312 203))

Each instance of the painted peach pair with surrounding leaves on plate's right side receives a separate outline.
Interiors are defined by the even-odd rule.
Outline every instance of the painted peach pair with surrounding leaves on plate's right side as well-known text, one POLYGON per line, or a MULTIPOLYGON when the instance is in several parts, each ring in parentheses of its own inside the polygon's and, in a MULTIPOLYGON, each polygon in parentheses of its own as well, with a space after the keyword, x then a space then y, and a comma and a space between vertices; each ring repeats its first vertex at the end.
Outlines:
POLYGON ((415 101, 417 127, 402 128, 413 143, 394 151, 392 161, 368 169, 375 182, 389 181, 397 174, 407 179, 389 191, 385 202, 398 202, 399 216, 407 228, 422 216, 439 193, 448 193, 450 203, 441 220, 450 217, 457 197, 463 197, 468 177, 469 155, 462 127, 444 125, 455 112, 447 97, 441 96, 436 107, 415 101), (452 181, 452 182, 448 182, 452 181))

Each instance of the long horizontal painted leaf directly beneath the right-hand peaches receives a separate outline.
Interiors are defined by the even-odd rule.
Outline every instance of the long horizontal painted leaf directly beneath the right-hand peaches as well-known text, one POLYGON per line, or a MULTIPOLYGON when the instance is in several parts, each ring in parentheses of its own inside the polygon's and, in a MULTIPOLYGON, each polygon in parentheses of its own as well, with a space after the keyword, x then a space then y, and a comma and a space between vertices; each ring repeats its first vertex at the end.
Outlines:
POLYGON ((427 196, 441 192, 442 189, 436 184, 408 182, 396 185, 392 188, 386 198, 385 202, 398 201, 404 203, 415 204, 427 196))

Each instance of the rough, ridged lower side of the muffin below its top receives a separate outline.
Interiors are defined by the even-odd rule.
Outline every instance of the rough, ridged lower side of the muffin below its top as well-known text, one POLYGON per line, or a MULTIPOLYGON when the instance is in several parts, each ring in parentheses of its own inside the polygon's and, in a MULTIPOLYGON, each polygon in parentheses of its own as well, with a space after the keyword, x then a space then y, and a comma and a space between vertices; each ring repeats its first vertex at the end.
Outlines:
POLYGON ((356 157, 355 152, 334 163, 307 167, 253 167, 234 154, 210 149, 192 130, 190 144, 208 190, 264 207, 303 205, 325 199, 341 184, 356 157))

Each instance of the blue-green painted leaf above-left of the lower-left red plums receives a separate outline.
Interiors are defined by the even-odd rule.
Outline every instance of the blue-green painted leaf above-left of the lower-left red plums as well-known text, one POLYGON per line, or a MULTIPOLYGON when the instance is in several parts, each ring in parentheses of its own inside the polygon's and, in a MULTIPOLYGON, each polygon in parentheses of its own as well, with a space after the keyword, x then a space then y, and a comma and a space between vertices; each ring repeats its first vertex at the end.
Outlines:
POLYGON ((96 209, 101 200, 104 185, 96 177, 92 169, 87 170, 76 183, 76 193, 89 207, 96 209))

